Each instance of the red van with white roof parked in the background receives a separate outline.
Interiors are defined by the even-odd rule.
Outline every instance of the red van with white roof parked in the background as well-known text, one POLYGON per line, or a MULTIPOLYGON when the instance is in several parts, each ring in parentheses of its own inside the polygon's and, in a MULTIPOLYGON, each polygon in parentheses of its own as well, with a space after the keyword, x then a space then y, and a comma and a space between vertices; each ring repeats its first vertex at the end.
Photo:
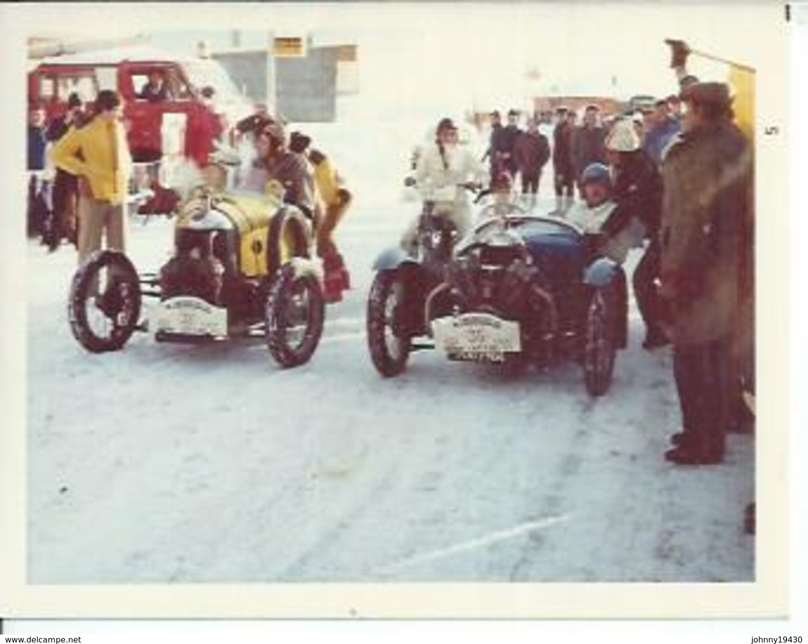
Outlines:
POLYGON ((28 74, 28 103, 44 107, 48 119, 66 111, 71 92, 89 102, 99 90, 120 94, 129 148, 139 162, 162 157, 163 115, 184 115, 184 155, 203 165, 213 151, 213 138, 252 111, 217 61, 183 58, 144 45, 52 56, 28 74), (165 98, 150 101, 141 94, 155 72, 167 92, 165 98), (202 96, 206 87, 214 90, 211 101, 202 96))

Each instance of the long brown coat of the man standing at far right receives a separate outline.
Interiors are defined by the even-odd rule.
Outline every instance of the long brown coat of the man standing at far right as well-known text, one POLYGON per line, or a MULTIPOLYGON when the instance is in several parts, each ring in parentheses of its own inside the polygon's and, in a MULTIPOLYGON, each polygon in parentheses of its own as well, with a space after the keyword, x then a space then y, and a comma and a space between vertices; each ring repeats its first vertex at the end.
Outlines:
POLYGON ((676 345, 731 337, 750 266, 751 149, 729 121, 683 133, 662 167, 661 295, 676 345))

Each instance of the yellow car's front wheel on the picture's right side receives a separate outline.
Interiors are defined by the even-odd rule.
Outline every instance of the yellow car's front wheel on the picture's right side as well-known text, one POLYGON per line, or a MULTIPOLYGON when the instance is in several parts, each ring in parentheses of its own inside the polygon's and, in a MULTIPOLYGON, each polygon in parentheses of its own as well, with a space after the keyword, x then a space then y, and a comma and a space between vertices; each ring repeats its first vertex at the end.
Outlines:
POLYGON ((283 367, 309 362, 322 337, 326 303, 314 271, 282 266, 268 291, 264 335, 272 358, 283 367))

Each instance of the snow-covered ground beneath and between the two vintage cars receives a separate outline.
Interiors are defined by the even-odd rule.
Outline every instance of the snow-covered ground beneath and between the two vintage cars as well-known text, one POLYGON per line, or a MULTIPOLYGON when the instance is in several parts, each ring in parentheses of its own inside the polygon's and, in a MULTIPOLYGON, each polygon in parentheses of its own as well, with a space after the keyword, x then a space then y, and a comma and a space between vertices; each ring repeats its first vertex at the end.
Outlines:
MULTIPOLYGON (((31 243, 31 583, 754 579, 754 439, 730 436, 719 466, 664 462, 670 350, 642 350, 633 308, 602 399, 572 364, 506 377, 423 352, 377 376, 365 298, 415 214, 398 200, 409 148, 339 127, 309 131, 356 190, 338 233, 354 289, 296 370, 248 340, 86 353, 65 312, 75 255, 31 243)), ((130 232, 136 266, 157 268, 170 223, 130 232)))

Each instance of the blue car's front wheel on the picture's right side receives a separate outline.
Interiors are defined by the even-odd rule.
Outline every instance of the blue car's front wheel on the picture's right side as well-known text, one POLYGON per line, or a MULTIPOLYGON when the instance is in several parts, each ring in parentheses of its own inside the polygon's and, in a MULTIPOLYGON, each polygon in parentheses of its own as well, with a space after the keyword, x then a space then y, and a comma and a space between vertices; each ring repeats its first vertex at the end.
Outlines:
POLYGON ((591 396, 604 395, 612 383, 617 348, 612 332, 611 299, 595 289, 587 307, 583 345, 583 378, 591 396))

